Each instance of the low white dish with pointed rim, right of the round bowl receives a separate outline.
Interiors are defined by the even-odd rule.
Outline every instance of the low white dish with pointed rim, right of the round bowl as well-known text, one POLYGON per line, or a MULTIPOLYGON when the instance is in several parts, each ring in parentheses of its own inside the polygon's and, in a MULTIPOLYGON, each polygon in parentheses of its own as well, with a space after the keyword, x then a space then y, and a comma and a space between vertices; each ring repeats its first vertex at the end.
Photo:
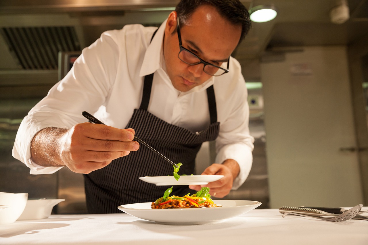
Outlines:
POLYGON ((46 219, 51 215, 52 208, 65 199, 28 200, 25 209, 18 220, 46 219))

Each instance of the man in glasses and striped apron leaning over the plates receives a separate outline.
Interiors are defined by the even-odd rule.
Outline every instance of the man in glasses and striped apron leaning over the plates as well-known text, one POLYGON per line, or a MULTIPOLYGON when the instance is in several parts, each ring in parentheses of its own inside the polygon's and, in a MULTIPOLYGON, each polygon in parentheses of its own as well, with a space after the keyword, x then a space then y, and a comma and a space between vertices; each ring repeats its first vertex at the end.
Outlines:
MULTIPOLYGON (((202 174, 224 175, 206 186, 226 196, 252 163, 247 90, 230 57, 249 28, 238 0, 182 0, 157 31, 127 25, 103 33, 22 121, 13 156, 31 174, 64 166, 84 174, 88 211, 116 213, 167 189, 139 177, 173 174, 134 135, 182 163, 179 174, 188 175, 202 142, 216 139, 216 163, 202 174), (86 123, 84 110, 106 125, 86 123)), ((189 188, 176 186, 173 194, 189 188)))

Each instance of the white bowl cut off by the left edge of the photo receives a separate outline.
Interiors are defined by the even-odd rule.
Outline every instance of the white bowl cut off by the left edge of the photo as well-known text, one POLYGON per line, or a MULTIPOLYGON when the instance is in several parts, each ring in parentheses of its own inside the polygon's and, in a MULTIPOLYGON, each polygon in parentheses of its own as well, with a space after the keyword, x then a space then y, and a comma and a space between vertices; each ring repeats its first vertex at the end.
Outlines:
POLYGON ((0 225, 11 224, 21 216, 28 193, 0 192, 0 225))

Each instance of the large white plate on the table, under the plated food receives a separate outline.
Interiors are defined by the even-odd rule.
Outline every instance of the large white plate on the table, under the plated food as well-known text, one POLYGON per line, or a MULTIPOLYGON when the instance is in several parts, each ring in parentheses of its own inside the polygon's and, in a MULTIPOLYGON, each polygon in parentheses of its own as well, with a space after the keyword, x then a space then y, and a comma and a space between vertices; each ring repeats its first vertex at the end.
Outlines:
POLYGON ((247 213, 261 202, 248 200, 214 200, 222 207, 190 209, 151 209, 151 202, 132 203, 118 206, 121 211, 143 220, 158 224, 196 225, 212 224, 247 213))

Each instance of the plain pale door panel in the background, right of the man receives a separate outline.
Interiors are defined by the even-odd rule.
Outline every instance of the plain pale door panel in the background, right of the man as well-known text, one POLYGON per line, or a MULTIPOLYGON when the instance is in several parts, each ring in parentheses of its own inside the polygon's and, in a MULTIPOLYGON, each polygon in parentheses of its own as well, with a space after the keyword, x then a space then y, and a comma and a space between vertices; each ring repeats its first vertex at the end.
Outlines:
POLYGON ((270 207, 362 203, 346 48, 262 62, 270 207))

